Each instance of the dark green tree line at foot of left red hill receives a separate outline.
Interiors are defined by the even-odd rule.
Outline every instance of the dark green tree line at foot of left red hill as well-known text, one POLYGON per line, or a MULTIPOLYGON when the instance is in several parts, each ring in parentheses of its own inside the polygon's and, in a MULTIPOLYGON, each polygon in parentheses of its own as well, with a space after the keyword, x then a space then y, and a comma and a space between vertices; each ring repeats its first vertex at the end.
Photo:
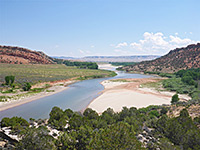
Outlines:
POLYGON ((66 66, 76 66, 80 69, 98 69, 98 65, 95 62, 80 62, 80 61, 69 61, 63 59, 55 59, 57 64, 65 64, 66 66))

